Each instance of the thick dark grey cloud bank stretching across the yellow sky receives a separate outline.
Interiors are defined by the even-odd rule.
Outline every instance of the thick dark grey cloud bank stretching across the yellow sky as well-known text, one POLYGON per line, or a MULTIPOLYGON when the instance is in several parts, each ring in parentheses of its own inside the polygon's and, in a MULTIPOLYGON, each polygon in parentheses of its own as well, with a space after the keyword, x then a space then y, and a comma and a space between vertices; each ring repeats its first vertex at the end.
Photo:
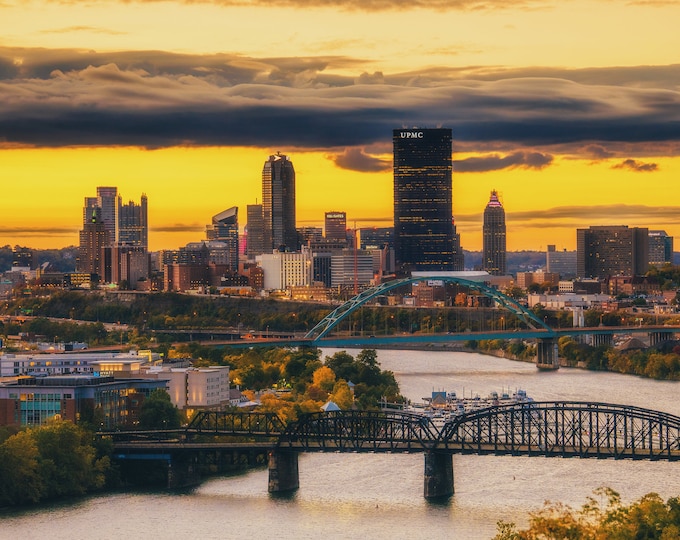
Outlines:
MULTIPOLYGON (((505 157, 458 164, 489 170, 550 163, 549 152, 527 147, 571 145, 601 159, 616 145, 671 148, 680 141, 680 84, 669 84, 680 83, 678 66, 653 70, 641 85, 634 84, 642 77, 637 68, 621 68, 618 77, 590 74, 600 81, 590 84, 554 70, 527 77, 513 71, 508 78, 502 70, 493 76, 484 70, 482 80, 476 68, 368 75, 361 73, 364 64, 332 56, 0 48, 0 144, 157 148, 286 141, 291 148, 348 148, 389 142, 392 129, 403 125, 445 126, 461 146, 503 147, 494 153, 505 157), (357 75, 341 76, 339 69, 357 75)), ((359 151, 336 159, 360 169, 387 166, 359 151)))

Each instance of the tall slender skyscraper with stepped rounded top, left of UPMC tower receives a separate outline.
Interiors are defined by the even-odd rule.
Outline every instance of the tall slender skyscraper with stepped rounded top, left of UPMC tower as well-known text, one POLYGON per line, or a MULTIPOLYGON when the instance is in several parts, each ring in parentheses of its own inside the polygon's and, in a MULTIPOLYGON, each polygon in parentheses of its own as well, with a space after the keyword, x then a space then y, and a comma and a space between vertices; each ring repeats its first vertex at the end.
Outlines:
POLYGON ((262 217, 265 249, 297 251, 295 229, 295 169, 280 152, 269 156, 262 169, 262 217))

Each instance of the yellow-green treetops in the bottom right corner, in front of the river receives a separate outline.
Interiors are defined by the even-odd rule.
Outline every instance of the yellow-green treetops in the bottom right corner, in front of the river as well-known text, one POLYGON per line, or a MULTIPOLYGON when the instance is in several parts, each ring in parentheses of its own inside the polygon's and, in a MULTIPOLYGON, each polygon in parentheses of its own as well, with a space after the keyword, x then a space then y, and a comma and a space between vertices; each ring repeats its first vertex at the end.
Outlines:
POLYGON ((494 540, 670 540, 680 532, 680 499, 666 503, 649 493, 625 506, 618 493, 595 490, 579 511, 561 503, 547 502, 530 514, 529 527, 517 530, 513 523, 499 522, 494 540), (605 499, 602 507, 599 500, 605 499))

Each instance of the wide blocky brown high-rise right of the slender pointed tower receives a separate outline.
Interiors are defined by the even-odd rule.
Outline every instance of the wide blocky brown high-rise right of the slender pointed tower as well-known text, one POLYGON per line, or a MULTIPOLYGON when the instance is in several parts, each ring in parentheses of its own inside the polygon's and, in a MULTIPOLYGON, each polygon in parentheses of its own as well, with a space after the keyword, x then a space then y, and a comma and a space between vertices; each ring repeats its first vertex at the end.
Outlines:
POLYGON ((627 225, 576 229, 576 275, 636 276, 647 272, 649 229, 627 225))

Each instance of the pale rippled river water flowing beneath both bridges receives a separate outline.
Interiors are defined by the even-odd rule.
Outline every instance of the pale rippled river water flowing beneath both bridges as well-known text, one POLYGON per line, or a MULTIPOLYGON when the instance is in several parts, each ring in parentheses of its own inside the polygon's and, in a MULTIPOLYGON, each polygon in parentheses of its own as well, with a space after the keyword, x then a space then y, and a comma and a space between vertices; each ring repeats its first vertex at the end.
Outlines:
MULTIPOLYGON (((601 401, 680 415, 678 382, 539 372, 473 353, 381 350, 378 360, 414 401, 432 390, 486 396, 523 389, 536 401, 601 401)), ((423 498, 422 454, 305 454, 299 467, 300 489, 290 497, 268 495, 261 469, 180 494, 122 493, 5 511, 0 538, 489 539, 498 520, 526 526, 527 513, 544 501, 580 508, 601 486, 624 502, 649 492, 680 496, 680 465, 667 462, 456 455, 455 494, 436 504, 423 498)))

